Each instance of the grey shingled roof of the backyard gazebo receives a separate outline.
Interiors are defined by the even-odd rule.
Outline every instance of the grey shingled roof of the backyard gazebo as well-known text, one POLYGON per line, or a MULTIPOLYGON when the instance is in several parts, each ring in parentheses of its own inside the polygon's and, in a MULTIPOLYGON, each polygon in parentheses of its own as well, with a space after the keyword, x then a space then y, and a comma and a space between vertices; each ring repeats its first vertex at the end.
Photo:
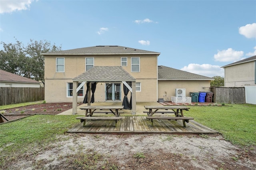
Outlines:
POLYGON ((121 82, 135 80, 136 79, 121 66, 94 66, 73 79, 73 81, 90 82, 121 82))

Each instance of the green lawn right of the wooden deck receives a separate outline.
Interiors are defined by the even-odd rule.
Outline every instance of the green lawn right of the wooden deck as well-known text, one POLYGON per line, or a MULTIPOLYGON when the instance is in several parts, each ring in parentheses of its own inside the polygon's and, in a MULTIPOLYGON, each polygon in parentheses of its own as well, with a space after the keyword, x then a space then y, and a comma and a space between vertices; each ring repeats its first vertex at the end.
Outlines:
POLYGON ((185 116, 222 133, 225 140, 241 146, 256 145, 256 105, 190 106, 185 116))

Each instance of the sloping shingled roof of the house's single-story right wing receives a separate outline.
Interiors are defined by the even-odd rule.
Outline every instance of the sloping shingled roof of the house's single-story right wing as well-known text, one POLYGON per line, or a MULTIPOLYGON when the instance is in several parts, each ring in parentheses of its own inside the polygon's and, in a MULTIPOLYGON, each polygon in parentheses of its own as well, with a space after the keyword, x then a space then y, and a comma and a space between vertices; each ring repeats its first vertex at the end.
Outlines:
POLYGON ((210 77, 158 65, 158 80, 214 80, 210 77))

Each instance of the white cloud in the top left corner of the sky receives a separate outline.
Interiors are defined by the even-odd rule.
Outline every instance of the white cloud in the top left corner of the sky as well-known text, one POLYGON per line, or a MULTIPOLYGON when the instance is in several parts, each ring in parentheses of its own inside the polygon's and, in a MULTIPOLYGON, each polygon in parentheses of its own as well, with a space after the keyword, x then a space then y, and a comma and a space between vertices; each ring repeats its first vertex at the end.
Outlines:
POLYGON ((34 0, 1 0, 0 14, 27 10, 34 0))

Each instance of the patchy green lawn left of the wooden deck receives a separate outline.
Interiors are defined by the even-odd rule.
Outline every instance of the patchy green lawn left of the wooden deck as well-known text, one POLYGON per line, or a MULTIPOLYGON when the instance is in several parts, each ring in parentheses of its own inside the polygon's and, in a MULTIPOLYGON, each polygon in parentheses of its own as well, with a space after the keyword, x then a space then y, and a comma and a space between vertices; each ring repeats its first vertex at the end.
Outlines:
POLYGON ((77 123, 77 115, 34 115, 0 125, 2 152, 26 152, 33 146, 47 146, 77 123), (24 147, 25 146, 25 147, 24 147))

